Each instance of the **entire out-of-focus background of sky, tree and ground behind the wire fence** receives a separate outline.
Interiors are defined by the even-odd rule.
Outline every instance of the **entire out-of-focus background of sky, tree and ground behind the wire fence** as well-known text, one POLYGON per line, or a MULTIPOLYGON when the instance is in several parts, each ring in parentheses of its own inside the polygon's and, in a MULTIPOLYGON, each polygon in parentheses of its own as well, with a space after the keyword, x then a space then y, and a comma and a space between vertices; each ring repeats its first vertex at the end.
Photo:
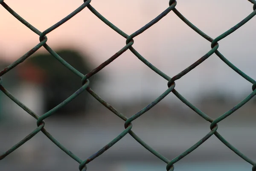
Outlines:
MULTIPOLYGON (((41 32, 66 17, 82 0, 5 0, 17 14, 41 32)), ((168 8, 168 0, 97 0, 90 3, 126 34, 132 34, 168 8)), ((253 11, 247 0, 177 0, 176 8, 190 22, 215 38, 253 11)), ((39 43, 39 36, 0 7, 0 70, 39 43)), ((256 18, 219 42, 218 50, 255 79, 256 18)), ((47 44, 83 74, 99 66, 125 46, 125 38, 84 9, 47 34, 47 44)), ((210 49, 210 43, 186 26, 172 11, 134 38, 133 47, 154 66, 173 77, 210 49)), ((175 81, 175 89, 213 119, 252 92, 252 84, 215 54, 175 81)), ((44 47, 3 75, 3 84, 38 115, 54 108, 81 86, 81 79, 61 65, 44 47)), ((166 91, 167 81, 126 51, 90 78, 90 87, 114 108, 131 117, 166 91)), ((252 160, 255 156, 255 97, 218 124, 218 132, 252 160)), ((45 119, 45 128, 61 144, 87 159, 124 130, 124 121, 87 91, 45 119)), ((210 123, 170 93, 133 121, 132 130, 148 145, 172 160, 210 131, 210 123)), ((0 92, 0 153, 36 128, 36 120, 0 92)), ((79 164, 43 133, 0 161, 3 171, 78 170, 79 164)), ((214 135, 179 162, 177 171, 240 171, 251 165, 214 135)), ((159 160, 130 135, 87 165, 89 171, 166 170, 159 160)))

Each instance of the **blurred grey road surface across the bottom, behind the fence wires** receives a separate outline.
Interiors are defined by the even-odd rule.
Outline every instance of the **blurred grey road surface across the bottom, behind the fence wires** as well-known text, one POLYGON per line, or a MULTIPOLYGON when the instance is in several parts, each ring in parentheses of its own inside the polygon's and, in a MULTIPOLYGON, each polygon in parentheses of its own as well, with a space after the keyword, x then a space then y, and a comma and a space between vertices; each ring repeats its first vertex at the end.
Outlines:
MULTIPOLYGON (((12 145, 23 139, 36 128, 35 125, 36 123, 0 125, 0 152, 8 150, 12 145)), ((84 124, 83 120, 71 120, 70 122, 46 120, 45 128, 61 144, 83 160, 99 151, 124 130, 122 121, 120 125, 109 124, 106 126, 100 123, 84 124)), ((218 132, 253 160, 256 152, 255 129, 256 126, 244 127, 243 125, 239 127, 238 125, 219 124, 218 132)), ((162 126, 136 123, 132 130, 148 145, 171 160, 204 137, 209 132, 209 124, 195 127, 182 123, 162 126)), ((216 163, 221 161, 238 161, 247 164, 214 135, 181 160, 181 162, 216 163)), ((87 164, 87 168, 90 171, 102 169, 114 171, 116 165, 123 162, 157 162, 166 166, 164 162, 161 162, 130 135, 127 135, 108 151, 87 164)), ((78 170, 78 166, 79 163, 61 151, 41 132, 0 161, 1 171, 75 171, 78 170)))

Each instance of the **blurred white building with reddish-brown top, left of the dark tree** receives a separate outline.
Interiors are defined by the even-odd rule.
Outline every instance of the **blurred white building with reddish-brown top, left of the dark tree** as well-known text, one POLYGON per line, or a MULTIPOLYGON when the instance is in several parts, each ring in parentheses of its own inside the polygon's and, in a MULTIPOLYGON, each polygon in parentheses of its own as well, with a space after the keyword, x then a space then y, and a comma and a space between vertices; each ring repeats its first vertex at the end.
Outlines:
MULTIPOLYGON (((6 67, 7 65, 5 65, 6 67)), ((3 67, 2 67, 3 68, 3 67)), ((43 114, 44 111, 44 92, 42 83, 45 80, 44 71, 33 65, 20 65, 15 70, 11 70, 3 76, 3 86, 11 92, 21 103, 26 105, 36 114, 43 114), (15 77, 14 77, 15 76, 15 77)), ((24 111, 20 106, 9 100, 2 92, 1 98, 1 115, 18 119, 21 122, 28 122, 33 117, 24 111)))

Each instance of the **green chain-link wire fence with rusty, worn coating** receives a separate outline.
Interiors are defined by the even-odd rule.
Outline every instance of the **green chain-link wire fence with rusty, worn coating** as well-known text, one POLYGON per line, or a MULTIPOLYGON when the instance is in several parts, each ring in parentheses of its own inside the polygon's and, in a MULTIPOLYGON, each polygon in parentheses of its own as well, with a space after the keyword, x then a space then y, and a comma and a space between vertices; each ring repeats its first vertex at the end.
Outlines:
POLYGON ((80 171, 86 171, 87 170, 87 164, 89 164, 92 160, 94 160, 96 157, 99 157, 102 153, 107 151, 109 148, 111 148, 116 142, 122 139, 127 134, 130 134, 137 142, 139 142, 143 147, 145 147, 148 151, 150 151, 152 154, 154 154, 156 157, 158 157, 163 162, 166 162, 166 170, 167 171, 173 171, 174 170, 174 164, 181 160, 183 157, 194 151, 196 148, 198 148, 202 143, 204 143, 206 140, 209 139, 213 134, 221 141, 223 142, 230 150, 235 152, 237 155, 239 155, 242 159, 244 159, 246 162, 253 165, 252 171, 256 171, 256 162, 248 158, 246 155, 242 154, 238 149, 236 149, 233 145, 231 145, 227 140, 222 137, 217 129, 218 129, 218 123, 221 120, 224 120, 226 117, 231 115, 234 111, 238 110, 242 105, 247 103, 250 99, 254 97, 256 94, 256 81, 247 76, 244 72, 239 70, 236 66, 234 66, 232 63, 225 58, 220 51, 218 51, 218 41, 224 39, 229 34, 236 31, 238 28, 243 26, 245 23, 247 23, 251 18, 253 18, 256 15, 256 0, 248 0, 251 3, 253 3, 253 12, 249 14, 244 20, 242 20, 240 23, 236 24, 236 26, 233 26, 220 36, 216 37, 215 39, 212 39, 207 34, 202 32, 199 28, 194 26, 192 23, 189 22, 180 12, 175 8, 177 5, 176 0, 169 0, 169 7, 163 11, 160 15, 158 15, 156 18, 151 20, 148 24, 140 28, 139 30, 135 31, 133 34, 128 35, 125 34, 122 30, 114 26, 110 21, 108 21, 105 17, 103 17, 96 9, 94 9, 90 2, 91 0, 84 0, 84 3, 77 8, 75 11, 73 11, 71 14, 69 14, 67 17, 56 23, 55 25, 51 26, 47 30, 41 32, 34 26, 32 26, 30 23, 28 23, 26 20, 24 20, 22 17, 20 17, 15 11, 13 11, 3 0, 0 0, 1 5, 3 8, 5 8, 7 11, 9 11, 10 14, 12 14, 17 20, 19 20, 21 23, 23 23, 25 26, 27 26, 31 31, 35 32, 39 36, 40 43, 33 47, 30 51, 28 51, 26 54, 24 54, 22 57, 20 57, 18 60, 16 60, 14 63, 12 63, 10 66, 7 66, 3 71, 0 72, 0 90, 6 94, 11 100, 13 100, 17 105, 19 105, 21 108, 23 108, 28 114, 30 114, 32 117, 34 117, 37 120, 37 128, 35 128, 34 131, 32 131, 29 135, 27 135, 23 140, 18 142, 16 145, 12 146, 9 150, 4 152, 0 155, 0 160, 3 160, 7 155, 11 154, 13 151, 15 151, 17 148, 19 148, 21 145, 26 143, 28 140, 30 140, 32 137, 34 137, 38 132, 43 132, 55 145, 57 145, 61 150, 63 150, 67 155, 69 155, 73 160, 76 160, 79 163, 79 170, 80 171), (76 70, 76 68, 73 68, 70 66, 69 63, 67 63, 65 60, 63 60, 55 51, 52 50, 47 45, 47 34, 53 31, 55 28, 61 26, 65 22, 67 22, 70 18, 74 17, 76 14, 78 14, 81 10, 89 9, 93 14, 95 14, 100 20, 102 20, 106 25, 111 27, 114 31, 116 31, 118 34, 120 34, 122 37, 126 39, 126 45, 116 52, 112 57, 110 57, 108 60, 106 60, 104 63, 99 65, 97 68, 93 69, 87 74, 82 74, 79 71, 76 70), (160 71, 158 68, 153 66, 148 60, 146 60, 138 51, 136 51, 132 45, 134 44, 133 38, 138 36, 139 34, 143 33, 143 31, 147 30, 154 24, 156 24, 159 20, 161 20, 163 17, 165 17, 169 12, 173 11, 177 17, 180 18, 184 23, 186 23, 187 26, 192 28, 194 31, 196 31, 199 35, 204 37, 206 40, 208 40, 211 43, 211 50, 207 52, 203 57, 201 57, 199 60, 197 60, 195 63, 193 63, 191 66, 185 68, 183 71, 175 75, 174 77, 169 77, 168 75, 164 74, 162 71, 160 71), (39 48, 44 46, 44 48, 47 49, 47 51, 52 54, 53 57, 55 57, 60 63, 62 63, 64 66, 66 66, 70 71, 72 71, 74 74, 79 76, 81 78, 81 88, 79 88, 74 94, 72 94, 70 97, 68 97, 66 100, 64 100, 62 103, 57 105, 52 110, 48 111, 47 113, 43 114, 42 116, 38 116, 33 111, 31 111, 29 108, 27 108, 23 103, 21 103, 19 100, 17 100, 9 91, 4 88, 3 84, 4 81, 1 76, 6 74, 8 71, 10 71, 12 68, 15 68, 17 65, 22 63, 24 60, 26 60, 29 56, 34 54, 39 48), (146 66, 151 68, 153 71, 155 71, 157 74, 159 74, 163 79, 167 80, 168 83, 168 89, 163 92, 156 100, 154 100, 152 103, 147 105, 145 108, 131 116, 130 118, 125 117, 121 112, 117 111, 115 108, 113 108, 110 104, 108 104, 105 100, 103 100, 101 97, 99 97, 91 88, 90 88, 90 77, 92 77, 94 74, 98 73, 102 70, 102 68, 108 66, 113 60, 115 60, 117 57, 119 57, 121 54, 123 54, 125 51, 130 50, 139 60, 141 60, 146 66), (212 54, 216 54, 224 63, 227 64, 230 68, 232 68, 236 73, 238 73, 241 77, 243 77, 245 80, 252 83, 252 93, 249 94, 244 100, 242 100, 239 104, 234 106, 232 109, 227 111, 226 113, 222 114, 217 119, 213 120, 211 117, 209 117, 207 114, 196 108, 194 105, 192 105, 188 100, 186 100, 180 93, 178 93, 175 90, 175 81, 183 77, 185 74, 187 74, 189 71, 197 67, 199 64, 203 63, 204 60, 206 60, 208 57, 210 57, 212 54), (86 160, 82 160, 79 157, 77 157, 75 154, 73 154, 71 151, 69 151, 67 148, 65 148, 58 140, 56 140, 52 135, 44 128, 45 122, 44 119, 47 117, 52 116, 55 111, 57 111, 59 108, 63 107, 73 99, 75 99, 79 94, 83 93, 84 91, 87 91, 90 93, 96 100, 99 101, 102 105, 104 105, 106 108, 108 108, 110 111, 112 111, 114 114, 116 114, 117 117, 122 119, 124 121, 124 127, 125 130, 122 131, 115 139, 113 139, 111 142, 109 142, 107 145, 105 145, 102 149, 97 151, 92 156, 88 157, 86 160), (149 145, 147 145, 143 140, 140 139, 131 129, 132 129, 132 121, 136 120, 138 117, 143 115, 146 111, 150 110, 154 105, 160 102, 164 97, 166 97, 169 93, 173 93, 177 98, 179 98, 183 103, 185 103, 189 108, 191 108, 193 111, 195 111, 197 114, 199 114, 201 117, 203 117, 206 121, 208 121, 210 124, 210 131, 207 135, 205 135, 201 140, 199 140, 195 145, 181 153, 179 156, 175 157, 172 160, 167 159, 163 155, 159 154, 157 151, 155 151, 153 148, 151 148, 149 145))

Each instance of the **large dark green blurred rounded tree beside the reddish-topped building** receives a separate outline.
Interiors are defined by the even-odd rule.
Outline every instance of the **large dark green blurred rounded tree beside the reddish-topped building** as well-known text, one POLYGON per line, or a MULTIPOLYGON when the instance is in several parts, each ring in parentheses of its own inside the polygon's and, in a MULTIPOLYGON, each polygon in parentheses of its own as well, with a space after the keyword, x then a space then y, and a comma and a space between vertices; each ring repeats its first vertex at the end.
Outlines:
MULTIPOLYGON (((93 69, 88 57, 79 54, 78 51, 70 49, 62 49, 56 51, 67 63, 76 68, 82 74, 87 74, 93 69)), ((55 57, 47 52, 47 54, 37 54, 25 60, 26 64, 33 64, 44 71, 45 78, 43 79, 44 96, 45 96, 45 112, 51 110, 56 105, 63 102, 75 91, 81 87, 81 79, 72 71, 62 65, 55 57)), ((26 65, 25 65, 26 66, 26 65)), ((90 78, 90 87, 99 80, 99 73, 90 78)), ((77 115, 84 113, 88 106, 89 93, 85 90, 82 94, 56 111, 56 114, 77 115)))

